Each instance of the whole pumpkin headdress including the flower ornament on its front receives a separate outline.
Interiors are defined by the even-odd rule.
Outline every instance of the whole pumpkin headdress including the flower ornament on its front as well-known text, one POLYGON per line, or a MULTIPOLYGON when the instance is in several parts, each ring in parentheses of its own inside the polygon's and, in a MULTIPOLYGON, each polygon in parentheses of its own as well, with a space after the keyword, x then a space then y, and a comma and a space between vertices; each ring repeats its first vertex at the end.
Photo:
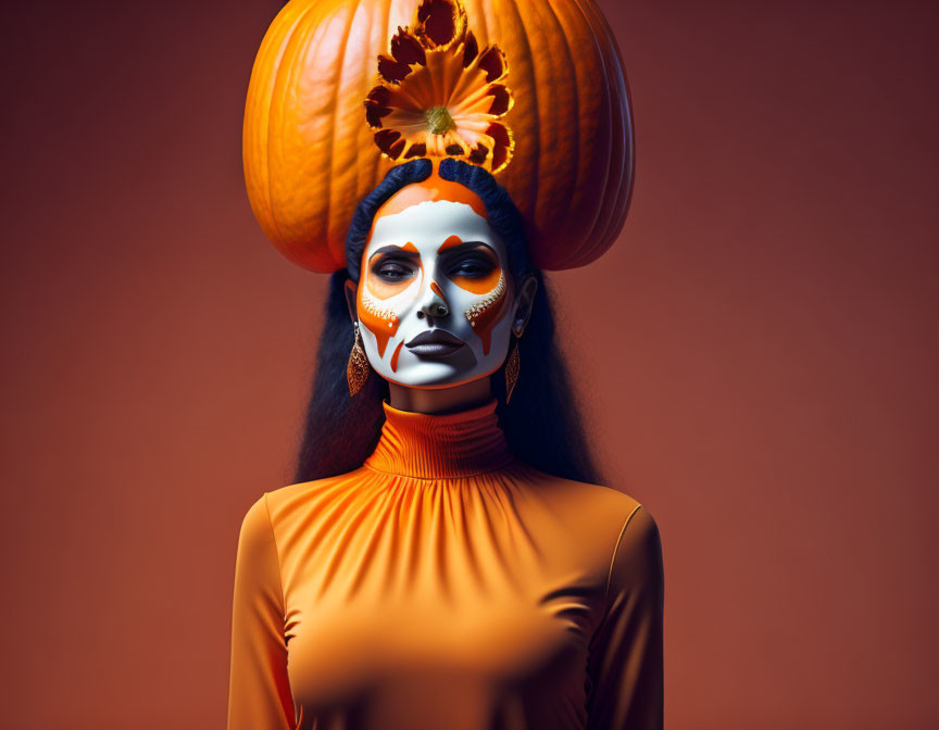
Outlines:
POLYGON ((242 152, 261 227, 322 273, 346 265, 359 202, 417 158, 492 173, 547 270, 604 253, 633 188, 626 78, 593 0, 291 0, 254 62, 242 152))

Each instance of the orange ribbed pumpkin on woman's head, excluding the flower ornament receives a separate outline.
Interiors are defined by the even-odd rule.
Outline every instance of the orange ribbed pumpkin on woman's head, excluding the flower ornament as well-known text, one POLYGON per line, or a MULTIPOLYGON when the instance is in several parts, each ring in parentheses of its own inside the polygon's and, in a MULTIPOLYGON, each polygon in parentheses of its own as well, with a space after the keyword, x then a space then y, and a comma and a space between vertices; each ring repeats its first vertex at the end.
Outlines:
MULTIPOLYGON (((414 23, 421 1, 291 0, 264 37, 245 110, 245 178, 265 234, 304 268, 346 265, 355 206, 403 161, 373 141, 364 105, 383 80, 378 56, 392 56, 392 36, 414 23)), ((501 111, 514 147, 496 174, 525 217, 533 262, 583 266, 615 240, 633 187, 613 34, 592 0, 462 4, 479 49, 497 45, 508 61, 514 103, 501 111)))

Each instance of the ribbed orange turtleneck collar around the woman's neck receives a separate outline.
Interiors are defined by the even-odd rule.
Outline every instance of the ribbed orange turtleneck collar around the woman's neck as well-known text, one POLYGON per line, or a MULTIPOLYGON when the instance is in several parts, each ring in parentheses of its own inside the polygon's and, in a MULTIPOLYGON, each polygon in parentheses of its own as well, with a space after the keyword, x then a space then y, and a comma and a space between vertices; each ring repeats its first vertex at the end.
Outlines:
POLYGON ((399 411, 388 403, 381 437, 365 466, 420 479, 470 477, 513 460, 499 428, 496 399, 459 413, 399 411))

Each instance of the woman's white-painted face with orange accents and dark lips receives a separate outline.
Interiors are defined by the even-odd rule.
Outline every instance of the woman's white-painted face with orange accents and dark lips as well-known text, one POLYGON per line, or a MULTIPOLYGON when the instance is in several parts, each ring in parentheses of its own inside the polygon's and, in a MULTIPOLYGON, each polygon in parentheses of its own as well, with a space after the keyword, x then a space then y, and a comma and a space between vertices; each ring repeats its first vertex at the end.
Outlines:
POLYGON ((513 302, 505 247, 466 203, 425 201, 375 222, 358 316, 386 380, 440 388, 490 375, 509 350, 513 302))

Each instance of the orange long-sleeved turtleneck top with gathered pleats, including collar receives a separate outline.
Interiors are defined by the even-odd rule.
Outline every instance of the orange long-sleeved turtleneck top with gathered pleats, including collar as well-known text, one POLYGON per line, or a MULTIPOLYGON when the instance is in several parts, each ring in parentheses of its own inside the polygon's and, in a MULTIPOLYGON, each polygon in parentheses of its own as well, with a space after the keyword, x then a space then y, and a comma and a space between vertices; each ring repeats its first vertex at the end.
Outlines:
POLYGON ((228 730, 662 728, 655 521, 517 461, 494 408, 386 403, 361 468, 248 511, 228 730))

